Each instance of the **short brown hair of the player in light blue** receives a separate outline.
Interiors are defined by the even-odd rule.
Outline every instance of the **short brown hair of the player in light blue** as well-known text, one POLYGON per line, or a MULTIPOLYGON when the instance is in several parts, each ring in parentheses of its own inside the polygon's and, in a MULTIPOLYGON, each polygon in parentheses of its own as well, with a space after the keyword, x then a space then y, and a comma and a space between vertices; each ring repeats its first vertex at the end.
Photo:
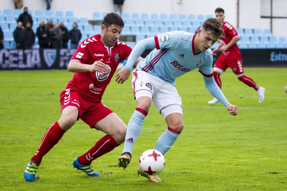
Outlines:
POLYGON ((209 18, 206 19, 202 25, 201 28, 207 32, 207 34, 212 34, 212 36, 216 37, 223 37, 223 29, 220 21, 218 21, 215 18, 209 18))

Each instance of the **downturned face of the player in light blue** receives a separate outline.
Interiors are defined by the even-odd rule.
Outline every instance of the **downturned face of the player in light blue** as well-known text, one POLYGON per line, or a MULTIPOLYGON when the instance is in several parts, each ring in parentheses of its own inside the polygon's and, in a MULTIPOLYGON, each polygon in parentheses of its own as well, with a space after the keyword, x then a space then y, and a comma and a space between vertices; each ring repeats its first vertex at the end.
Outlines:
POLYGON ((194 43, 194 48, 197 51, 204 52, 210 48, 218 40, 219 37, 210 34, 210 31, 197 30, 198 40, 194 43))

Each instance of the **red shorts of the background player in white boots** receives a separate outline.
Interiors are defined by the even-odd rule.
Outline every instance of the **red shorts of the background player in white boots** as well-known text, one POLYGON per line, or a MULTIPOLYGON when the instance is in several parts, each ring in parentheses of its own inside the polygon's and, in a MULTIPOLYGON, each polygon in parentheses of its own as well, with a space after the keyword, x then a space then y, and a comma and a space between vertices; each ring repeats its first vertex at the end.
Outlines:
POLYGON ((226 68, 230 67, 234 74, 240 75, 243 74, 243 65, 241 57, 233 57, 228 59, 223 53, 219 56, 214 64, 214 68, 220 68, 224 72, 226 68))

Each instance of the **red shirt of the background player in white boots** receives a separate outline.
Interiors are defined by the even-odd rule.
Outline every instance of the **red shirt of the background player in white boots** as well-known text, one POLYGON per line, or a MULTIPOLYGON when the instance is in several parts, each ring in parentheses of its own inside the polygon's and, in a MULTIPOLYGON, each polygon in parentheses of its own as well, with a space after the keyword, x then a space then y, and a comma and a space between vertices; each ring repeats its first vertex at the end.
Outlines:
MULTIPOLYGON (((234 27, 230 25, 228 22, 224 22, 222 25, 222 28, 225 33, 225 38, 220 37, 220 40, 222 40, 224 44, 228 44, 233 38, 238 36, 234 27)), ((228 56, 229 58, 238 57, 238 56, 241 57, 241 53, 239 51, 237 44, 234 44, 233 46, 228 48, 226 51, 224 51, 223 55, 228 56)))

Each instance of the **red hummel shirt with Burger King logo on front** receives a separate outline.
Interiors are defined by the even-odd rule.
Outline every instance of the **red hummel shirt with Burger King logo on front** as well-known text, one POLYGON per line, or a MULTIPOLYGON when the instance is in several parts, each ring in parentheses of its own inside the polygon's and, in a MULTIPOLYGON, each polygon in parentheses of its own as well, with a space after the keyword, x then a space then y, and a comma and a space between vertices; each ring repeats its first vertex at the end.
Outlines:
POLYGON ((71 60, 78 60, 83 64, 93 64, 95 61, 103 59, 107 71, 75 73, 66 89, 71 88, 71 91, 79 92, 88 101, 101 102, 102 95, 117 66, 129 56, 131 50, 131 47, 121 41, 117 41, 112 47, 104 46, 100 40, 100 34, 84 40, 71 60))

